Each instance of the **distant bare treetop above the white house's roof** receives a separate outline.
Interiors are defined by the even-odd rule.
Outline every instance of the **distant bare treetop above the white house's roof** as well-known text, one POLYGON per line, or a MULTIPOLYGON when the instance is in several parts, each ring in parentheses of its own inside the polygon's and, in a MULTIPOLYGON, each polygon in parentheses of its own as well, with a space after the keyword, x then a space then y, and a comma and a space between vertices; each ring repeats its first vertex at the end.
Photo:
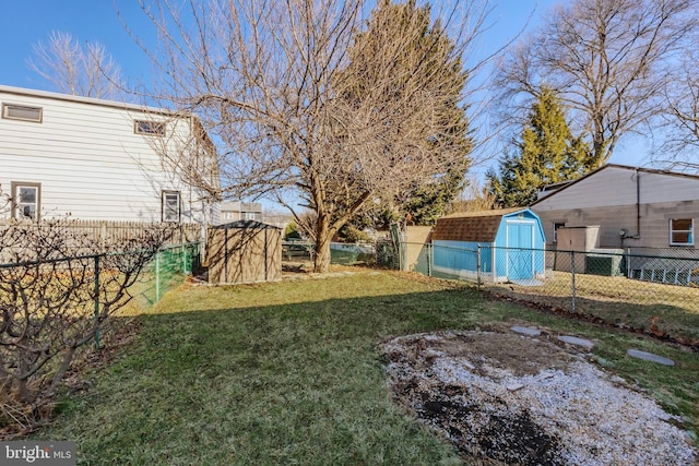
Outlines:
POLYGON ((82 45, 68 33, 55 31, 48 41, 34 45, 27 59, 29 69, 59 92, 95 98, 121 98, 123 86, 119 65, 99 43, 82 45))

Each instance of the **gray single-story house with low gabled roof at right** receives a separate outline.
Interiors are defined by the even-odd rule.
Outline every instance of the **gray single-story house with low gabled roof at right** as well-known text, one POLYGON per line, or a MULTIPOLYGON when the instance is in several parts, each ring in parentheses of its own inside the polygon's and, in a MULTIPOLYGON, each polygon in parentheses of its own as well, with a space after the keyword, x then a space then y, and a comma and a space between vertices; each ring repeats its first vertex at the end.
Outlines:
POLYGON ((579 237, 594 248, 673 248, 694 256, 699 224, 699 176, 624 165, 604 167, 540 192, 531 210, 542 219, 547 249, 579 237), (561 230, 565 228, 565 230, 561 230), (588 229, 568 235, 569 229, 588 229), (568 230, 568 231, 566 231, 568 230))

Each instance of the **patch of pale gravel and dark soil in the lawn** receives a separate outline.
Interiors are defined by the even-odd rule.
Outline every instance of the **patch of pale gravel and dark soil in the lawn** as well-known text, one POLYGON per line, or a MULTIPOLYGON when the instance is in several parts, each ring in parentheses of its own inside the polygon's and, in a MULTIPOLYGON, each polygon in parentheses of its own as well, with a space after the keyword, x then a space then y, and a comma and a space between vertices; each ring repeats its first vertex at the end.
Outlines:
POLYGON ((489 332, 382 345, 395 399, 459 450, 506 464, 695 465, 682 419, 550 342, 489 332))

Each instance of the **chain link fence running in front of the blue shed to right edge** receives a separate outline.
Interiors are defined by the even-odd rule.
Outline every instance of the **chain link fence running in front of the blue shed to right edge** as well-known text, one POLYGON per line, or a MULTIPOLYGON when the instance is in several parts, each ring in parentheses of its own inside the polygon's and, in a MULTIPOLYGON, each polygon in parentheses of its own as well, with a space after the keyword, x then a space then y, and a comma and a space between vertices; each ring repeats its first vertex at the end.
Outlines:
MULTIPOLYGON (((401 244, 403 247, 403 244, 401 244)), ((414 272, 509 300, 699 346, 699 253, 424 244, 414 272)))

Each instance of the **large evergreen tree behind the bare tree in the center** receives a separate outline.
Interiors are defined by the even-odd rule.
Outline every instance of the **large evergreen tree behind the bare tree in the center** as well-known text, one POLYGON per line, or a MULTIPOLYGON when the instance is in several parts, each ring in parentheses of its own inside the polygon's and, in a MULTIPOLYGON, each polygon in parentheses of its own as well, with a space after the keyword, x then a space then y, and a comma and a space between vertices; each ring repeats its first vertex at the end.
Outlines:
MULTIPOLYGON (((380 205, 370 206, 367 211, 357 215, 352 224, 356 226, 387 227, 391 222, 404 218, 410 214, 417 225, 434 225, 434 223, 445 214, 449 203, 451 203, 464 187, 464 180, 471 159, 469 154, 473 148, 473 142, 469 135, 469 120, 465 115, 465 106, 462 105, 462 91, 465 87, 467 73, 463 71, 463 65, 458 53, 453 53, 454 44, 445 33, 437 22, 430 24, 429 4, 417 7, 415 0, 405 3, 394 3, 391 0, 381 0, 369 21, 367 32, 359 34, 354 47, 351 50, 352 70, 356 73, 355 85, 346 92, 343 97, 346 99, 362 99, 367 91, 371 88, 371 83, 376 81, 372 73, 386 72, 386 70, 371 70, 364 62, 370 60, 377 52, 376 36, 380 34, 390 40, 392 36, 405 36, 403 31, 417 31, 410 39, 405 51, 390 72, 398 82, 407 81, 414 70, 425 74, 428 81, 441 84, 441 98, 433 103, 431 118, 437 123, 429 124, 442 129, 433 133, 425 141, 425 150, 439 147, 443 151, 445 171, 435 176, 428 182, 416 182, 398 195, 384 196, 380 205), (419 26, 415 27, 415 23, 419 26), (410 26, 408 26, 410 25, 410 26), (416 67, 416 62, 422 63, 416 67), (362 72, 356 72, 362 70, 362 72), (365 71, 367 70, 367 71, 365 71), (443 92, 445 87, 449 92, 443 92), (453 153, 460 154, 453 157, 453 153)), ((410 86, 392 85, 390 89, 384 89, 387 94, 394 94, 394 98, 411 98, 414 92, 410 86)), ((416 120, 415 124, 426 124, 425 121, 416 120)), ((410 131, 410 129, 408 129, 410 131)), ((390 145, 386 147, 391 152, 390 145)), ((419 151, 416 154, 419 156, 419 151)))

